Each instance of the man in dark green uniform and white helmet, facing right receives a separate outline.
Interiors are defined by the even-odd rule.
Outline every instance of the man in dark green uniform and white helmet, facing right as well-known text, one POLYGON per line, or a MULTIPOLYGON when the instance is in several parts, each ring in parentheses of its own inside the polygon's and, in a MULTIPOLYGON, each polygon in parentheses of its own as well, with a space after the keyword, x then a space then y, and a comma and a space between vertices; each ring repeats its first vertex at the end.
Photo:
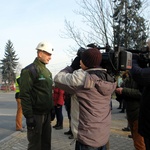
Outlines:
POLYGON ((34 62, 21 71, 20 99, 26 118, 28 150, 51 150, 52 74, 46 68, 53 48, 48 42, 36 47, 34 62))

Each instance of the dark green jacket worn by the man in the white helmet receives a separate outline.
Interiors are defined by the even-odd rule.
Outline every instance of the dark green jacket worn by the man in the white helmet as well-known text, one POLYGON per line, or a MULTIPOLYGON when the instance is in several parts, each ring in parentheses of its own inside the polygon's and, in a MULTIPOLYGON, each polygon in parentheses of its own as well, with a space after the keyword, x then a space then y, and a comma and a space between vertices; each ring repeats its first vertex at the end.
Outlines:
POLYGON ((20 99, 26 118, 48 114, 53 107, 52 74, 38 58, 33 63, 37 70, 36 79, 27 67, 21 71, 20 99))

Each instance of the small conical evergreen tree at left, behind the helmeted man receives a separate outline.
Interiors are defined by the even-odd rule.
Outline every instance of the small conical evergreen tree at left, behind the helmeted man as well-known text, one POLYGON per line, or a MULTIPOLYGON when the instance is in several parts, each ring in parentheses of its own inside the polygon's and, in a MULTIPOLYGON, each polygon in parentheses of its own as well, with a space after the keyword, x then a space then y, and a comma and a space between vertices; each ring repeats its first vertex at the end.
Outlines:
POLYGON ((15 82, 15 69, 18 64, 13 43, 8 40, 5 47, 4 58, 1 60, 2 82, 9 87, 15 82))

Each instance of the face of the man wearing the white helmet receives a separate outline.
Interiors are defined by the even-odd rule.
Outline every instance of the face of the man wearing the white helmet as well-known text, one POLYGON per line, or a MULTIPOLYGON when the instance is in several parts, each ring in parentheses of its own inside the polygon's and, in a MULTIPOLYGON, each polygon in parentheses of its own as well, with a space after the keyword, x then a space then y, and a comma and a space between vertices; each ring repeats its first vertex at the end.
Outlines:
POLYGON ((47 53, 45 51, 39 51, 38 52, 38 58, 41 62, 43 62, 44 64, 48 64, 49 61, 51 60, 51 55, 50 53, 47 53))

